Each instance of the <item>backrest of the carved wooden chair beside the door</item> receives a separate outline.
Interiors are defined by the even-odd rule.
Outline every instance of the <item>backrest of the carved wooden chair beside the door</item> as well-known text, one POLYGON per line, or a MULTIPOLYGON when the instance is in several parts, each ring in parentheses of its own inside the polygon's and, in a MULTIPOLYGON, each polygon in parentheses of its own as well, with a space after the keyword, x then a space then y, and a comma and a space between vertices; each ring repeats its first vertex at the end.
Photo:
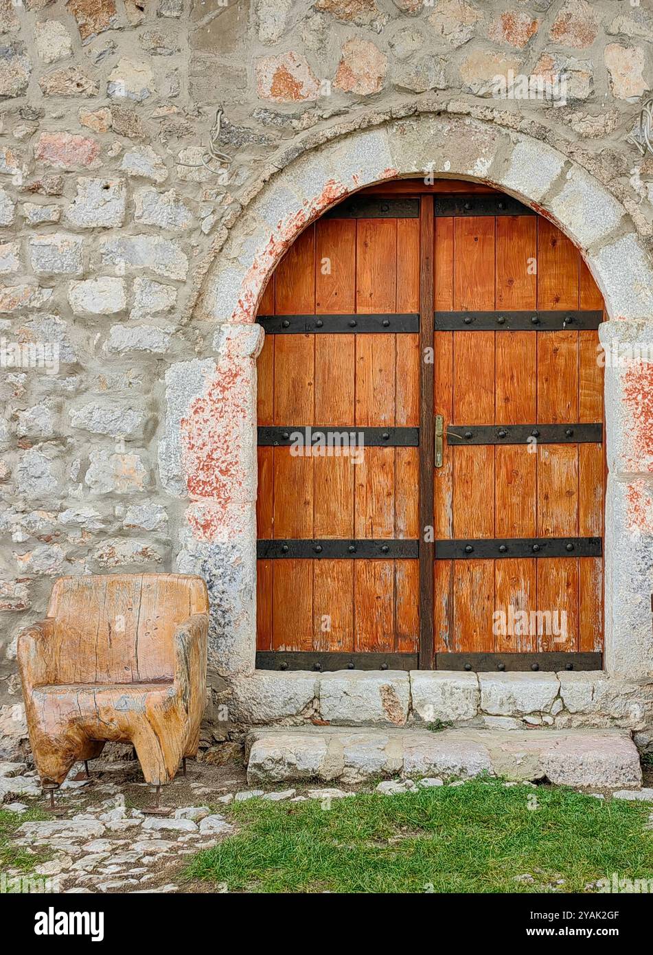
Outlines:
POLYGON ((206 584, 182 574, 60 577, 48 616, 55 620, 53 682, 137 683, 170 679, 175 627, 206 613, 206 584))

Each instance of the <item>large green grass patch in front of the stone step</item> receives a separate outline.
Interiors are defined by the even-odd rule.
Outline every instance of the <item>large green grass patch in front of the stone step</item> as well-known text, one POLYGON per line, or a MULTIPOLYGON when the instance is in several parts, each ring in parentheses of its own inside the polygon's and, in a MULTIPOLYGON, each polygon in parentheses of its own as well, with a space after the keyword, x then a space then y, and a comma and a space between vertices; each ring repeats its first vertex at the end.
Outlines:
POLYGON ((186 876, 230 891, 583 892, 613 872, 653 879, 650 806, 572 790, 477 780, 334 799, 329 810, 250 799, 221 811, 239 833, 186 876))

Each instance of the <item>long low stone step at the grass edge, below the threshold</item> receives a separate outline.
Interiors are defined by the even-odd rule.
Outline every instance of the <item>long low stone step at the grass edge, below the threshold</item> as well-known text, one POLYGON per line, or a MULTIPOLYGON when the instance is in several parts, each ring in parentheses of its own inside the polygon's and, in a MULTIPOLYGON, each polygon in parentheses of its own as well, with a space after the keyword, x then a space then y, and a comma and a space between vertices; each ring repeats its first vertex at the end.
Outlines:
POLYGON ((624 730, 355 730, 265 727, 249 732, 252 783, 365 782, 402 776, 548 779, 588 789, 640 789, 642 767, 624 730))

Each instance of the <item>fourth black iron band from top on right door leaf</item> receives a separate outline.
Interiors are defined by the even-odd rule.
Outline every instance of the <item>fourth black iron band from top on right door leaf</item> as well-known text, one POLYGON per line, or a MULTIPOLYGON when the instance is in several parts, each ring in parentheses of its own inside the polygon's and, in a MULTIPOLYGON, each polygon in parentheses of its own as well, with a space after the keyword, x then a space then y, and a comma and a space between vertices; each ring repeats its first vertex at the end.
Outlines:
POLYGON ((600 557, 601 538, 501 538, 435 541, 435 560, 500 560, 516 557, 600 557))

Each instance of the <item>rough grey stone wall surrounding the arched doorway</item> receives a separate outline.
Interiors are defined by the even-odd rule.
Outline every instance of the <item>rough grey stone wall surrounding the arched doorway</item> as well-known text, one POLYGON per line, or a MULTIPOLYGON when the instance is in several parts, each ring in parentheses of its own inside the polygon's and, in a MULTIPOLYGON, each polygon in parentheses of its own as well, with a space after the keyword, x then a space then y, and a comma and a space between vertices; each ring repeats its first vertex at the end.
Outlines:
MULTIPOLYGON (((220 287, 202 284, 265 184, 306 150, 357 129, 420 114, 474 117, 541 143, 544 178, 546 146, 573 160, 621 203, 638 248, 650 251, 653 158, 627 137, 653 82, 653 3, 0 0, 0 32, 2 734, 24 732, 15 638, 43 615, 56 576, 193 569, 179 560, 189 520, 191 529, 209 523, 222 548, 207 572, 214 649, 242 626, 230 592, 252 580, 239 576, 238 548, 221 538, 223 502, 204 503, 200 467, 215 415, 225 414, 223 392, 196 408, 192 487, 176 470, 179 448, 163 416, 166 379, 167 413, 181 425, 183 394, 216 363, 222 389, 234 356, 253 368, 258 332, 217 330, 233 309, 223 310, 220 287), (516 77, 512 96, 500 96, 497 75, 516 77), (520 76, 545 80, 549 92, 516 98, 520 76), (214 148, 228 161, 207 168, 219 108, 214 148), (34 344, 45 352, 30 352, 34 344), (7 367, 17 345, 20 360, 7 367), (34 358, 49 367, 26 367, 34 358), (190 518, 189 498, 200 501, 190 518)), ((426 150, 425 168, 429 161, 426 150)), ((537 176, 537 154, 523 161, 537 176)), ((273 220, 290 204, 281 189, 266 202, 273 220)), ((583 224, 585 234, 597 227, 591 217, 581 232, 583 224)), ((234 254, 247 264, 248 253, 240 240, 234 254)), ((627 317, 649 319, 633 295, 627 317)), ((650 536, 647 369, 628 386, 633 414, 648 417, 624 465, 639 483, 624 484, 623 495, 636 530, 650 536)), ((221 426, 228 432, 229 421, 221 426)), ((236 424, 230 435, 218 450, 238 482, 242 460, 229 458, 242 436, 236 424)), ((248 502, 254 469, 246 475, 248 502)), ((230 514, 233 531, 244 518, 230 514)), ((650 579, 648 563, 642 575, 650 579)))

